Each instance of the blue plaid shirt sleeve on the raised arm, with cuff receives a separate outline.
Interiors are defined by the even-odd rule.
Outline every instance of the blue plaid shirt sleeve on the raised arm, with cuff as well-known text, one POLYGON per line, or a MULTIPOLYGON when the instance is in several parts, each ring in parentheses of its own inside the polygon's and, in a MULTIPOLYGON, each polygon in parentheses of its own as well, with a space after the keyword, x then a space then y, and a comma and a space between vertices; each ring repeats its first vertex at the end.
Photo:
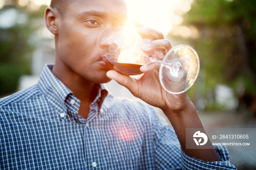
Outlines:
POLYGON ((204 162, 185 154, 172 127, 158 115, 151 115, 155 140, 154 161, 156 169, 182 170, 236 170, 231 164, 226 147, 215 146, 220 161, 204 162))

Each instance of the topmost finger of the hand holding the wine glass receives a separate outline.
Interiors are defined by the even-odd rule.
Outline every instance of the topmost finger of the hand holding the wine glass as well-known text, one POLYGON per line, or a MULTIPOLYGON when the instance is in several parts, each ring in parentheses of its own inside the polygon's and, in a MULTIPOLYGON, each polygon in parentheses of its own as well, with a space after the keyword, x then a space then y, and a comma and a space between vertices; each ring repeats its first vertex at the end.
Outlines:
POLYGON ((138 28, 137 32, 140 36, 142 36, 142 38, 150 38, 153 40, 164 39, 163 33, 153 28, 142 27, 142 28, 138 28))

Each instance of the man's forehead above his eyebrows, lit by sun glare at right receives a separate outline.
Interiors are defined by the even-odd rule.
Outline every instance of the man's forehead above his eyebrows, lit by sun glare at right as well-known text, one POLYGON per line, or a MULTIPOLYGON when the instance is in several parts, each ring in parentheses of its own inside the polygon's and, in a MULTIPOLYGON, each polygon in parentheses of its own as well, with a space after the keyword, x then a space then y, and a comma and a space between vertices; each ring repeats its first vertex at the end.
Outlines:
POLYGON ((127 17, 125 0, 74 0, 67 4, 65 13, 79 15, 88 11, 127 17))

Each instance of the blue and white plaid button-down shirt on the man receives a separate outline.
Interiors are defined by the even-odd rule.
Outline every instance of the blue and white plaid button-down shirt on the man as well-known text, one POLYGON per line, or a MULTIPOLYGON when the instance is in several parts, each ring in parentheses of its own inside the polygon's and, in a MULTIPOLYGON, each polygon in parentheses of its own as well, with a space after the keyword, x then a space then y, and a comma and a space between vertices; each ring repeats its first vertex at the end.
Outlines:
POLYGON ((0 169, 236 169, 224 148, 216 148, 221 162, 189 157, 151 106, 113 97, 104 85, 84 119, 52 67, 0 100, 0 169))

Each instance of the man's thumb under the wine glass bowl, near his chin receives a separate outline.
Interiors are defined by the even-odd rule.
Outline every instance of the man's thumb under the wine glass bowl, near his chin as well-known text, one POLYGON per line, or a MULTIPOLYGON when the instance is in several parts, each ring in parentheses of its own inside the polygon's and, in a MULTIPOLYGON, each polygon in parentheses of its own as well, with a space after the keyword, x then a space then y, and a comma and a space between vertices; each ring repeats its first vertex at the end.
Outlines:
POLYGON ((136 90, 136 82, 132 77, 118 73, 115 70, 109 70, 106 75, 108 78, 127 88, 131 93, 136 90))

